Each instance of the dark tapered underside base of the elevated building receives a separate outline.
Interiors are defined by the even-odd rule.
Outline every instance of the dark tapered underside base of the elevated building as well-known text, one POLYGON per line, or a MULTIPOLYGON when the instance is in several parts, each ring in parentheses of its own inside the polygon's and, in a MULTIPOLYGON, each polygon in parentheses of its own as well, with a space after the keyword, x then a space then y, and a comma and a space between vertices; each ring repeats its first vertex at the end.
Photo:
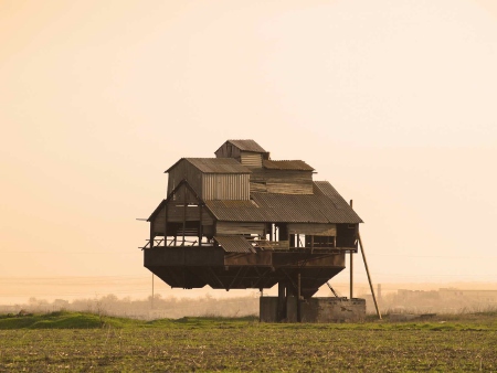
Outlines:
POLYGON ((219 246, 161 246, 146 248, 144 264, 177 288, 268 289, 300 274, 302 294, 309 298, 345 268, 345 252, 226 253, 219 246))

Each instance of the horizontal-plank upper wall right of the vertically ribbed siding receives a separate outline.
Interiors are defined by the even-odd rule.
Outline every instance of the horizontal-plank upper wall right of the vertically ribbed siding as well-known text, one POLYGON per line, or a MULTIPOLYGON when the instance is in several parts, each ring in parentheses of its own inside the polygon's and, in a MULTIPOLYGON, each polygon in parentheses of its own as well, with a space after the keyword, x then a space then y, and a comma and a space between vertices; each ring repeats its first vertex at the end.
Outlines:
POLYGON ((253 169, 251 192, 313 194, 313 172, 253 169))

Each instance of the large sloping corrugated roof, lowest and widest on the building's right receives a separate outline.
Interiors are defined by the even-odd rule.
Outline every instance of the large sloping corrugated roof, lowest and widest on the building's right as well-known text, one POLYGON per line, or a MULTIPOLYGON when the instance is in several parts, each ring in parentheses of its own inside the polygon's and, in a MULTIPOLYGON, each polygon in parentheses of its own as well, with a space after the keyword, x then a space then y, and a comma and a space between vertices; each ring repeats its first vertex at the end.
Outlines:
POLYGON ((220 221, 287 223, 362 223, 327 181, 314 183, 314 194, 252 193, 250 201, 205 201, 220 221), (229 202, 229 203, 228 203, 229 202))

